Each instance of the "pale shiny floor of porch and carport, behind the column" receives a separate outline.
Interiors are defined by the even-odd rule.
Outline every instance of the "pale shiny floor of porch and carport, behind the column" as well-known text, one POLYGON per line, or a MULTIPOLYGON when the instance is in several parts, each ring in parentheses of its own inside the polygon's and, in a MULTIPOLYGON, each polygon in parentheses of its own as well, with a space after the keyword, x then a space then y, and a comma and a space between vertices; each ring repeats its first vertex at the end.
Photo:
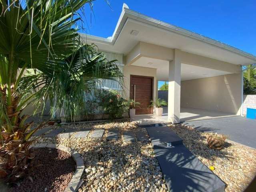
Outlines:
MULTIPOLYGON (((194 120, 205 120, 212 118, 222 118, 236 116, 235 114, 202 110, 195 108, 180 108, 180 122, 194 121, 194 120)), ((168 122, 168 108, 163 107, 163 115, 157 117, 152 114, 147 115, 136 115, 132 120, 139 124, 154 124, 154 123, 166 123, 168 122)))

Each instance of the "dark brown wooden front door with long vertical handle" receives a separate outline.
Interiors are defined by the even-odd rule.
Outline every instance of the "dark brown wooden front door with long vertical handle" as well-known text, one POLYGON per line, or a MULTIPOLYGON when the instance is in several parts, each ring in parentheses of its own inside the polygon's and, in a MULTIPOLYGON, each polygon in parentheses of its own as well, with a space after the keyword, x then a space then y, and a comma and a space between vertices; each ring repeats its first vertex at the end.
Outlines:
POLYGON ((153 99, 153 82, 154 77, 131 75, 130 99, 134 100, 135 93, 135 102, 140 102, 140 108, 136 108, 136 115, 152 113, 152 109, 148 106, 153 99))

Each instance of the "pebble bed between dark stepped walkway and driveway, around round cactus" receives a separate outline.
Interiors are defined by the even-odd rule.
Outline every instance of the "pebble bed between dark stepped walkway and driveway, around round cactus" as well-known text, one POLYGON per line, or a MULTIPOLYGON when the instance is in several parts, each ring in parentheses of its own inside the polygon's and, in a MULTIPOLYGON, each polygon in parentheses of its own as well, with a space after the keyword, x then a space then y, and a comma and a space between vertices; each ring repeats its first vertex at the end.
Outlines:
POLYGON ((220 151, 208 148, 209 133, 181 125, 170 126, 183 139, 184 145, 226 183, 226 192, 242 192, 256 174, 256 150, 227 141, 220 151))

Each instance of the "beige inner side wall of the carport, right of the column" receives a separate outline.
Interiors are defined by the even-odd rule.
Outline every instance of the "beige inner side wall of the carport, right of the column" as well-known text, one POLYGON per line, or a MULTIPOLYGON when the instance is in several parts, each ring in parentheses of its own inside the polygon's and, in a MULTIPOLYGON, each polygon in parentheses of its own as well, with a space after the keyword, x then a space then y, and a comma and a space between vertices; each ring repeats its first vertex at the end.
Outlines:
POLYGON ((240 114, 241 74, 181 82, 181 107, 240 114))

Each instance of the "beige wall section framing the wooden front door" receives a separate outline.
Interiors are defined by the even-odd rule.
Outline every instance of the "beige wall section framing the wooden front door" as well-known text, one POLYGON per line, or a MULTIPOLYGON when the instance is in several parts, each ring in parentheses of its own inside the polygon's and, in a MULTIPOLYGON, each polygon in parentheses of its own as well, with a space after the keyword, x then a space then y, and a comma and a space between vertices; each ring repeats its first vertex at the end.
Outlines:
POLYGON ((124 66, 124 98, 130 97, 130 75, 150 76, 154 77, 154 94, 153 99, 156 98, 156 69, 138 66, 124 66))

